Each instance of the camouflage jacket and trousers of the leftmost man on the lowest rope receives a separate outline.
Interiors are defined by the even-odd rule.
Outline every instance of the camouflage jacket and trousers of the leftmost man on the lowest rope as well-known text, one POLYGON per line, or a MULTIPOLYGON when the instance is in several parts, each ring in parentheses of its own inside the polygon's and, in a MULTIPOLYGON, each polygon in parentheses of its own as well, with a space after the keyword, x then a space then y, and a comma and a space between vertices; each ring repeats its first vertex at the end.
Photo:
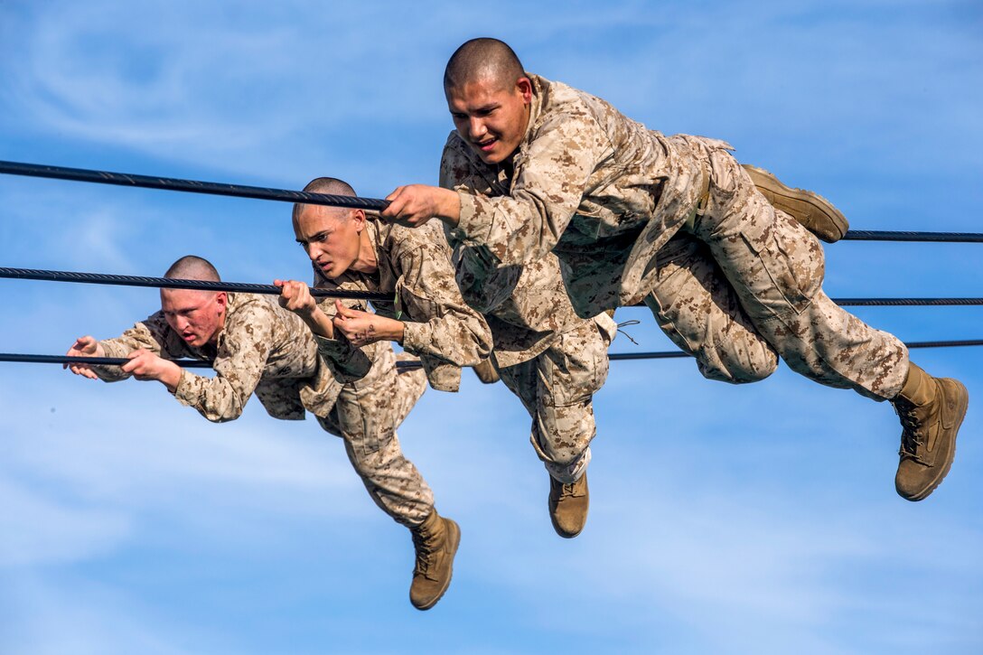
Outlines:
MULTIPOLYGON (((167 325, 162 312, 100 343, 108 357, 145 348, 165 359, 214 360, 213 378, 182 371, 174 391, 178 401, 215 422, 238 418, 254 392, 274 418, 302 420, 306 408, 321 427, 344 440, 370 496, 393 519, 417 525, 433 511, 433 493, 403 457, 395 435, 395 427, 423 393, 424 377, 419 371, 397 376, 391 348, 379 348, 367 376, 384 389, 384 402, 378 403, 378 398, 367 397, 366 382, 338 380, 318 356, 311 330, 267 296, 229 293, 215 345, 189 345, 167 325)), ((92 370, 106 382, 130 377, 117 366, 92 370)))

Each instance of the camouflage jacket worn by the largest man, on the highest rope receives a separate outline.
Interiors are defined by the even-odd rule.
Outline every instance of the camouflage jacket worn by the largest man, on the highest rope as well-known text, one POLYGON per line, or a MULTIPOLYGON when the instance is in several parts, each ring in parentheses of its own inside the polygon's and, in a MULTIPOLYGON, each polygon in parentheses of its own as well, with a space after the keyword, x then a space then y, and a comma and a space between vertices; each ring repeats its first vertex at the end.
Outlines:
POLYGON ((655 255, 703 195, 704 162, 725 143, 665 137, 606 101, 529 75, 533 100, 519 149, 505 166, 486 164, 451 133, 443 158, 461 180, 452 238, 486 246, 500 266, 560 260, 577 314, 639 302, 655 255), (482 193, 494 181, 507 193, 482 193))

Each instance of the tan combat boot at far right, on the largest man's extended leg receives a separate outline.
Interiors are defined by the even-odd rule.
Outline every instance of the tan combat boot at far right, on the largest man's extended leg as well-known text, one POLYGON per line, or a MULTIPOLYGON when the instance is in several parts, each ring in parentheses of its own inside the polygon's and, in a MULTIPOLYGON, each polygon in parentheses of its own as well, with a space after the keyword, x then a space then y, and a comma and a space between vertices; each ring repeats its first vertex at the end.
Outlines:
POLYGON ((949 473, 955 435, 966 415, 969 393, 951 378, 933 378, 914 364, 891 401, 901 419, 901 456, 895 488, 908 501, 921 501, 949 473))

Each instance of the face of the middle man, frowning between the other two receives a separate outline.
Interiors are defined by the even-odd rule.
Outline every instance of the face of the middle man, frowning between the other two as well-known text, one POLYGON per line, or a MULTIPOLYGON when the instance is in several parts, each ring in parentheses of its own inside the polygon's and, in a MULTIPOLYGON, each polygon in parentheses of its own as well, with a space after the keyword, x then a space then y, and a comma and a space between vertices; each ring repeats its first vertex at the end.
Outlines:
POLYGON ((297 243, 329 279, 345 272, 358 260, 362 215, 358 209, 304 205, 294 220, 297 243))

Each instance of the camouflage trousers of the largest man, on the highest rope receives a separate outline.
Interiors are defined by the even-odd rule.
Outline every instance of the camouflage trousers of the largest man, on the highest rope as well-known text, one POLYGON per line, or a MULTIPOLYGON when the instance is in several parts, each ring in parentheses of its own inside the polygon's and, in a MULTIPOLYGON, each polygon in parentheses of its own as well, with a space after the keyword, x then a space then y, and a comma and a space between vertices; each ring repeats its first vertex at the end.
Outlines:
POLYGON ((729 152, 705 156, 707 207, 660 251, 645 298, 660 327, 713 380, 761 380, 781 356, 823 385, 895 397, 908 370, 904 344, 830 300, 819 241, 773 208, 729 152))

